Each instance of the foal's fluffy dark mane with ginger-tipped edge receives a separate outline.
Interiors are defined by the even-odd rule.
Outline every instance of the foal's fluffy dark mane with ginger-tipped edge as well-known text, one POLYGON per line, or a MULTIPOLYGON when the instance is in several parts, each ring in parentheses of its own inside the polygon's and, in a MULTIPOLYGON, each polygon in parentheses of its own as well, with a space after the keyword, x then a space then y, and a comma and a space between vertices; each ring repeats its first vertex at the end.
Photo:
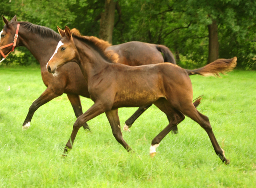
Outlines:
POLYGON ((114 51, 109 50, 109 51, 105 51, 108 47, 110 47, 110 43, 108 43, 107 41, 104 41, 102 39, 98 39, 97 37, 94 36, 84 36, 81 35, 80 31, 78 31, 78 29, 71 29, 70 30, 72 33, 72 37, 90 45, 91 47, 93 47, 96 51, 98 51, 98 53, 100 53, 100 55, 109 63, 117 63, 118 61, 118 54, 114 53, 114 51))

